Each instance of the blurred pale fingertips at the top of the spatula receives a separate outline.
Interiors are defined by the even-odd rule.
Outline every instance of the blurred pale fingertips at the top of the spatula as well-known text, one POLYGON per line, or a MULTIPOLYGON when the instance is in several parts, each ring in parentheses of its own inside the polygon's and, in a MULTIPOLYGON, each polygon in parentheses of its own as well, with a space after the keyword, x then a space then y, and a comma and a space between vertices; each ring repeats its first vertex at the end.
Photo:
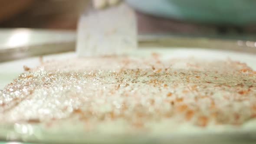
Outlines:
POLYGON ((93 0, 93 6, 96 9, 103 9, 117 5, 121 0, 93 0))

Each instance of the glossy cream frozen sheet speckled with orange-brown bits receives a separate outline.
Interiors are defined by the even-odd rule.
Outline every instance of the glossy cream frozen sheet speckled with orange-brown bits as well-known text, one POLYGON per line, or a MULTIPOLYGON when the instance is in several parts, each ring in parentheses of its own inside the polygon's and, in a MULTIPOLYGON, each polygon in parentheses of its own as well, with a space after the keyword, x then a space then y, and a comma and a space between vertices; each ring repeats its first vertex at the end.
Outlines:
MULTIPOLYGON (((228 56, 255 69, 254 56, 197 49, 141 49, 121 58, 55 56, 71 59, 45 62, 1 92, 0 120, 15 123, 9 139, 21 134, 24 140, 70 132, 162 135, 251 130, 255 72, 228 56), (152 52, 160 55, 151 56, 152 52)), ((17 65, 5 63, 4 68, 14 70, 17 65)), ((27 64, 32 65, 36 63, 27 64)))

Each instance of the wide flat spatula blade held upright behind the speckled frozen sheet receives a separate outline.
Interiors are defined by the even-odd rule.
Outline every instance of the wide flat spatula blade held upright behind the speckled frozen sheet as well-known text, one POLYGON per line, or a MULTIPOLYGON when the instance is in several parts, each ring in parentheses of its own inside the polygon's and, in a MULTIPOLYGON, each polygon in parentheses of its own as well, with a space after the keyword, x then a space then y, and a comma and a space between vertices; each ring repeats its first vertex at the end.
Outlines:
POLYGON ((103 10, 89 7, 80 17, 77 31, 79 56, 121 55, 137 47, 135 13, 125 3, 103 10))

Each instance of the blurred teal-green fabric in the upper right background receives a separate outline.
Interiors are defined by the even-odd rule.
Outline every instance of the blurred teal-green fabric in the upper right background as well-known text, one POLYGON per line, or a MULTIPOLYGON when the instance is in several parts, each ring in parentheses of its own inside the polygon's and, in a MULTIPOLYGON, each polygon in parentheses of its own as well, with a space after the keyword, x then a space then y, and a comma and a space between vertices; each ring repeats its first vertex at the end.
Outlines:
POLYGON ((218 25, 256 23, 256 0, 126 0, 154 16, 218 25))

